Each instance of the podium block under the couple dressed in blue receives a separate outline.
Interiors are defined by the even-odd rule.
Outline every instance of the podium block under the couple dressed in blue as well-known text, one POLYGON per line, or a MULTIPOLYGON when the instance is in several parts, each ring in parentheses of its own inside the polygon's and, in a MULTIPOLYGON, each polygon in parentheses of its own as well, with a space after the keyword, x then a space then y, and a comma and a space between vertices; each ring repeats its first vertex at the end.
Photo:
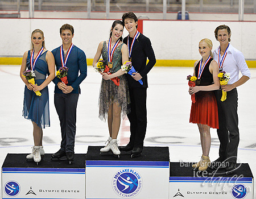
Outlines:
POLYGON ((45 154, 39 165, 27 154, 7 154, 2 165, 2 198, 85 198, 85 154, 75 161, 51 161, 45 154))

